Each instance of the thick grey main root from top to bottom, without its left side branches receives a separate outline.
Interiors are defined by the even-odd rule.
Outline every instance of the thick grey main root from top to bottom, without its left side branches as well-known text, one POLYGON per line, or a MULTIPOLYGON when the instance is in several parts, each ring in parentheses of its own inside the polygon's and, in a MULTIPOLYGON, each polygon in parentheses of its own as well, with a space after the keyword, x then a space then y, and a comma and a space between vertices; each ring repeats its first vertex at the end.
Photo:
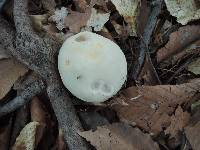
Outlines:
POLYGON ((47 82, 47 93, 69 149, 86 149, 84 140, 77 134, 81 124, 57 72, 55 50, 52 48, 56 47, 55 43, 50 39, 40 38, 32 30, 27 8, 27 0, 14 1, 16 56, 47 82))

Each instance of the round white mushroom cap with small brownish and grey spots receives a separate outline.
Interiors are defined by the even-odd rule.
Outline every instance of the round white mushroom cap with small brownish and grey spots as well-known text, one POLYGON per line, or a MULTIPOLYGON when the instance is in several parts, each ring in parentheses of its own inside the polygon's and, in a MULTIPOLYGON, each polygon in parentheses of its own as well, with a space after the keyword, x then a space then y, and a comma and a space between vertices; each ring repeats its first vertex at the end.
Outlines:
POLYGON ((92 32, 80 32, 63 43, 58 69, 73 95, 94 103, 115 95, 127 76, 127 62, 120 47, 92 32))

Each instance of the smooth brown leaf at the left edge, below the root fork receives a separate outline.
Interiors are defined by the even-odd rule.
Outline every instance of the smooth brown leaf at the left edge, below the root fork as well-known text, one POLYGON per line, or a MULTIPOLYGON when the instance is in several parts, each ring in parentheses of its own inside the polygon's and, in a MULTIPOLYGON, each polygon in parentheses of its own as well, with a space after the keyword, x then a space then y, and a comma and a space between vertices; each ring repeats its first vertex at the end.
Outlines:
POLYGON ((15 81, 23 76, 28 69, 13 59, 0 60, 0 99, 11 89, 15 81))

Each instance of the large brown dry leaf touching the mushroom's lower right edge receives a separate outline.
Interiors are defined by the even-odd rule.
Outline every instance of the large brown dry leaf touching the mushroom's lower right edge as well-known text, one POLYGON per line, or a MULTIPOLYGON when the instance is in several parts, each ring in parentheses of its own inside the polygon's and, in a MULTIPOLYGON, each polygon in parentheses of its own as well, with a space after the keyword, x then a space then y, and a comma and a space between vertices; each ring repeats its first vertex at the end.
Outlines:
POLYGON ((181 85, 130 87, 111 100, 111 108, 121 121, 158 134, 170 125, 176 107, 194 100, 199 90, 199 79, 181 85))

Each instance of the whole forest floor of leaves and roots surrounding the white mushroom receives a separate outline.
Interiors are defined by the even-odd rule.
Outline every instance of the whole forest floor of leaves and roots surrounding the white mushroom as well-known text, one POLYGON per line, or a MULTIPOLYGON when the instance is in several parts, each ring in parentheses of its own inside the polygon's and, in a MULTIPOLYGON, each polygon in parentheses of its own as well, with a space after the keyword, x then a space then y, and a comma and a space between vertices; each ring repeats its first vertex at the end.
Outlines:
POLYGON ((0 150, 200 150, 199 19, 198 0, 0 0, 0 150), (100 104, 58 72, 81 31, 127 60, 126 83, 100 104))

